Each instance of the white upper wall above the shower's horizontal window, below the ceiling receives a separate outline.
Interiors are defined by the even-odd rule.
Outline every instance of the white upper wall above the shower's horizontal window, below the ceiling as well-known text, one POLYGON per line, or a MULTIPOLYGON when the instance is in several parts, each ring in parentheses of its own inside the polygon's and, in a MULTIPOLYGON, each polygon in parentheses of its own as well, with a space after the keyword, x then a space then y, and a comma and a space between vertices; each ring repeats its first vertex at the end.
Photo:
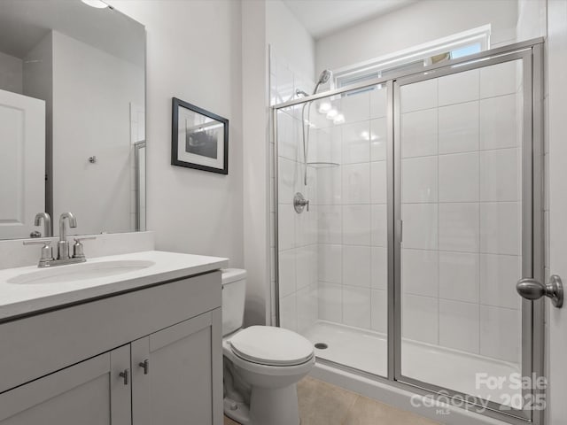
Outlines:
POLYGON ((492 24, 491 44, 516 40, 517 0, 429 0, 317 40, 316 69, 336 69, 492 24))

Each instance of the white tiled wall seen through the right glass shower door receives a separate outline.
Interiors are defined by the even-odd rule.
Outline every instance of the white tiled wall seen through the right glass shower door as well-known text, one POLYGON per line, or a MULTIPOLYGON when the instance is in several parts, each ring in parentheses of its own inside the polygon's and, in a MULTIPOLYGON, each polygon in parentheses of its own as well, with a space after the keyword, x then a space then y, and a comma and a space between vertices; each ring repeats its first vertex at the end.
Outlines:
POLYGON ((520 62, 402 86, 402 336, 517 362, 520 62))

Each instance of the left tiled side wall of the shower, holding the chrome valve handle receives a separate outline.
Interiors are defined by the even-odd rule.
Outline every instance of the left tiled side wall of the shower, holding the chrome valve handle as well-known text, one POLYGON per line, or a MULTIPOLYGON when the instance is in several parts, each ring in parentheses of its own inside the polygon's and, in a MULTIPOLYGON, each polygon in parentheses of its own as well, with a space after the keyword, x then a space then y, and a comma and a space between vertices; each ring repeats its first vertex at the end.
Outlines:
MULTIPOLYGON (((279 104, 294 98, 296 89, 311 91, 315 83, 293 71, 283 58, 276 58, 270 50, 270 103, 279 104)), ((303 148, 301 139, 301 108, 287 108, 278 112, 278 194, 275 198, 275 165, 271 164, 270 216, 275 228, 278 209, 278 247, 271 237, 272 288, 275 288, 276 250, 279 255, 280 325, 303 332, 318 318, 317 303, 317 215, 315 205, 315 170, 307 169, 304 185, 303 148), (301 192, 311 200, 309 211, 298 214, 293 209, 293 196, 301 192)), ((274 158, 275 144, 270 143, 270 160, 274 158)), ((274 299, 274 298, 273 298, 274 299)), ((272 308, 272 312, 275 312, 272 308)), ((276 318, 272 317, 275 323, 276 318)))

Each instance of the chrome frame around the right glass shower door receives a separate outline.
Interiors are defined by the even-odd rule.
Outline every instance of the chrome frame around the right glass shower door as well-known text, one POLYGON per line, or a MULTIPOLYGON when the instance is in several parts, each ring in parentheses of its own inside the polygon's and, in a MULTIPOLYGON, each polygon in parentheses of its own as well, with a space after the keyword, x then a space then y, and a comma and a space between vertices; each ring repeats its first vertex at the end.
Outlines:
MULTIPOLYGON (((446 66, 417 75, 410 75, 393 82, 394 96, 394 140, 393 140, 393 169, 394 185, 392 204, 394 208, 393 223, 393 305, 391 309, 394 339, 394 376, 396 382, 404 383, 425 391, 431 395, 447 396, 454 401, 466 400, 466 394, 439 387, 432 383, 425 383, 401 373, 401 155, 400 155, 400 89, 401 87, 447 75, 462 73, 487 66, 494 66, 505 62, 521 59, 523 63, 523 128, 522 128, 522 276, 533 277, 544 282, 543 259, 543 175, 542 166, 542 73, 541 73, 541 44, 534 44, 528 48, 512 50, 488 56, 480 60, 446 66)), ((487 52, 489 53, 489 52, 487 52)), ((519 297, 519 296, 518 296, 519 297)), ((531 302, 522 300, 522 376, 543 376, 543 335, 544 335, 544 304, 541 300, 531 302)), ((540 390, 523 390, 524 403, 534 400, 540 390)), ((484 404, 484 403, 483 403, 484 404)), ((469 403, 472 410, 482 409, 481 404, 469 403)), ((487 408, 482 413, 487 416, 508 421, 509 423, 542 423, 542 412, 537 410, 518 410, 502 407, 493 401, 487 402, 487 408)))

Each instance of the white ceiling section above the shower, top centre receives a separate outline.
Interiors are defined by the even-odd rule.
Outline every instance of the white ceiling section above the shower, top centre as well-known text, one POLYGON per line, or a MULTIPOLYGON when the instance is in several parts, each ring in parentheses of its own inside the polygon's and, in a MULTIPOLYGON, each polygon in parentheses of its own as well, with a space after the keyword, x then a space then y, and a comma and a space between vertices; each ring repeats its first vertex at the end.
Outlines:
POLYGON ((392 12, 417 0, 283 0, 315 38, 392 12))

